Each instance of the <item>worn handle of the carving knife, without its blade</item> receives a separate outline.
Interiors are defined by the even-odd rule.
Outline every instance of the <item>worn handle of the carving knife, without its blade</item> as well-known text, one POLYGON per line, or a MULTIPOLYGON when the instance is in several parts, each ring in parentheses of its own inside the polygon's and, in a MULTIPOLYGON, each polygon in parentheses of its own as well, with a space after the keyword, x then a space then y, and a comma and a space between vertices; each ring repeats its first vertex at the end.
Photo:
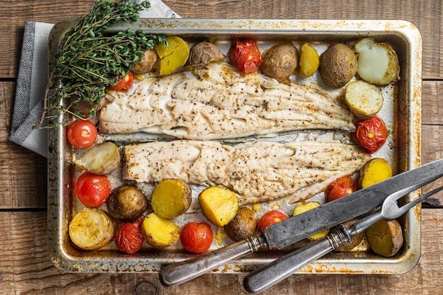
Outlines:
POLYGON ((262 236, 258 234, 245 241, 239 241, 224 248, 199 255, 196 258, 167 265, 159 271, 159 279, 164 287, 182 284, 265 246, 262 236))

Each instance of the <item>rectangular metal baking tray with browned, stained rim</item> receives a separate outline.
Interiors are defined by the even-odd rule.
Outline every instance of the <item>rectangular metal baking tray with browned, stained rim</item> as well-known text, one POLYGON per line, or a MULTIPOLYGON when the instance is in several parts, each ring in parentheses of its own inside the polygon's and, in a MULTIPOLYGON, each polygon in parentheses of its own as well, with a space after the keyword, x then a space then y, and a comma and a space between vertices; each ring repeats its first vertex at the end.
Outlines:
MULTIPOLYGON (((66 20, 54 26, 50 34, 50 66, 54 52, 64 33, 75 20, 66 20)), ((388 144, 374 156, 386 158, 394 173, 420 166, 420 125, 422 95, 422 40, 417 28, 406 21, 343 21, 343 20, 241 20, 241 19, 141 19, 131 23, 132 29, 149 33, 179 35, 192 43, 211 38, 225 53, 233 37, 252 37, 260 47, 275 42, 291 41, 296 45, 312 42, 321 53, 335 42, 352 42, 363 37, 374 37, 388 42, 396 50, 401 66, 401 79, 382 88, 384 107, 379 116, 390 131, 388 144)), ((126 30, 127 24, 116 25, 110 32, 126 30)), ((298 80, 322 88, 318 73, 309 79, 298 80)), ((330 92, 330 89, 328 90, 330 92)), ((340 96, 339 89, 330 93, 340 96)), ((62 120, 64 118, 60 118, 62 120)), ((98 250, 78 250, 69 241, 68 225, 72 216, 81 209, 73 197, 75 169, 72 164, 76 152, 66 139, 66 127, 49 130, 48 146, 48 245, 52 262, 66 272, 158 272, 162 265, 192 258, 180 245, 162 250, 144 245, 132 255, 120 253, 111 243, 98 250)), ((111 136, 112 137, 112 136, 111 136)), ((125 137, 127 138, 127 137, 125 137)), ((112 139, 112 138, 107 138, 112 139)), ((126 139, 128 140, 128 139, 126 139)), ((407 198, 418 197, 416 191, 407 198)), ((404 243, 393 258, 382 258, 367 250, 364 242, 346 253, 330 253, 307 265, 301 273, 355 273, 398 274, 408 272, 420 258, 420 206, 411 209, 399 219, 403 226, 404 243)), ((226 239, 222 245, 226 245, 226 239)), ((300 247, 304 241, 294 245, 300 247)), ((214 241, 212 248, 217 248, 214 241)), ((291 249, 261 251, 246 258, 230 262, 213 272, 249 272, 291 249)))

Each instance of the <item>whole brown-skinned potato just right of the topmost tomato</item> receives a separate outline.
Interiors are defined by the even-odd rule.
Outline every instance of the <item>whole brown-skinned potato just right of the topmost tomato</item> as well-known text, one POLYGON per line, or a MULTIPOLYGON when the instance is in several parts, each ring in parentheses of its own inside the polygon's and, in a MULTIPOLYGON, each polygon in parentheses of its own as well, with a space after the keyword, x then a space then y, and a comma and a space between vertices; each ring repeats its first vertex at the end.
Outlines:
POLYGON ((291 76, 299 64, 299 51, 292 44, 277 44, 263 53, 260 70, 279 82, 291 76))

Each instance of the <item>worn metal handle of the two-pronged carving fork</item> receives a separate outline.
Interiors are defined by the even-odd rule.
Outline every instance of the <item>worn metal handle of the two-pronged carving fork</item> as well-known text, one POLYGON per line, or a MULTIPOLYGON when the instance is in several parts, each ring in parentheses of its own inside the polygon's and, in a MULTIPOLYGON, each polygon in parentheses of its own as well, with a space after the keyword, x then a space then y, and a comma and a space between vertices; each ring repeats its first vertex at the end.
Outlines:
POLYGON ((329 234, 250 272, 243 279, 243 287, 253 294, 264 291, 345 242, 350 242, 350 236, 344 229, 340 229, 337 234, 329 234))

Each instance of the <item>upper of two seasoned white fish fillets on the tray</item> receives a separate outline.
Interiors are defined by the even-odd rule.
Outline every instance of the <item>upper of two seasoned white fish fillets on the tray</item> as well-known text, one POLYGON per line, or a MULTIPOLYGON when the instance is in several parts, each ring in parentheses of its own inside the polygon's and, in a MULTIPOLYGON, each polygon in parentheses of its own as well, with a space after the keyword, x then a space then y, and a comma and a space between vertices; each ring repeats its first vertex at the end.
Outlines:
POLYGON ((146 78, 116 92, 100 110, 100 132, 147 132, 179 139, 227 139, 299 129, 354 130, 353 115, 333 98, 229 64, 146 78))

